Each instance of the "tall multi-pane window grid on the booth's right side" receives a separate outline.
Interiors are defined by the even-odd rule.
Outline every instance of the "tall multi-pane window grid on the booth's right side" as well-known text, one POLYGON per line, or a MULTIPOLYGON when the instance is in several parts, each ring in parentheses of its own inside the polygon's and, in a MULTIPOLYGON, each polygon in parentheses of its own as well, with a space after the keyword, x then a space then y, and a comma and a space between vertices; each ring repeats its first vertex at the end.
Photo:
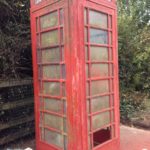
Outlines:
MULTIPOLYGON (((104 24, 104 22, 99 22, 95 21, 94 19, 91 21, 90 19, 90 13, 91 10, 89 8, 85 8, 84 12, 84 17, 85 17, 85 51, 86 51, 86 88, 87 88, 87 105, 88 108, 88 117, 89 117, 89 131, 90 131, 90 144, 89 144, 89 149, 94 149, 95 148, 95 141, 94 141, 94 134, 98 132, 99 130, 108 127, 110 130, 110 136, 113 138, 114 135, 114 89, 113 89, 113 84, 114 84, 114 73, 113 73, 113 45, 112 45, 112 20, 111 15, 108 14, 101 14, 101 12, 97 12, 92 10, 93 14, 92 15, 99 15, 99 16, 104 16, 104 20, 107 24, 104 24), (96 14, 94 14, 96 12, 96 14), (107 19, 106 19, 107 18, 107 19), (94 22, 95 21, 95 22, 94 22), (102 26, 100 26, 102 25, 102 26), (95 30, 93 30, 95 29, 95 30), (103 42, 102 42, 103 41, 103 42), (96 49, 93 49, 91 46, 94 46, 96 49), (105 47, 105 49, 103 49, 105 47), (98 50, 102 48, 103 51, 98 50), (106 51, 107 49, 107 51, 106 51), (104 53, 105 50, 105 53, 104 53), (97 52, 98 53, 97 53, 97 52), (103 53, 103 57, 100 55, 103 53), (99 55, 98 55, 99 54, 99 55), (104 65, 102 65, 104 64, 104 65), (106 65, 105 65, 106 64, 106 65), (97 65, 97 66, 96 66, 97 65), (97 68, 98 67, 98 68, 97 68), (100 73, 101 72, 101 73, 100 73), (105 83, 100 83, 101 81, 107 81, 105 83), (99 82, 99 83, 93 83, 93 82, 99 82), (101 85, 102 87, 104 84, 108 84, 105 88, 105 90, 92 90, 95 88, 96 84, 101 85), (107 90, 108 89, 108 90, 107 90), (102 93, 99 93, 102 92, 102 93), (96 102, 93 101, 93 97, 99 98, 100 96, 106 96, 109 95, 109 107, 108 108, 103 108, 101 110, 96 110, 95 112, 92 112, 92 106, 96 102), (94 102, 94 103, 93 103, 94 102), (106 116, 108 118, 105 118, 104 112, 106 112, 106 116), (97 122, 98 115, 103 117, 105 120, 106 124, 104 127, 100 127, 98 129, 94 129, 94 120, 97 122), (104 115, 104 116, 103 116, 104 115), (96 118, 95 118, 96 117, 96 118), (93 120, 94 119, 94 120, 93 120)), ((94 18, 94 17, 93 17, 94 18)), ((98 19, 97 19, 98 20, 98 19)), ((100 19, 99 19, 100 20, 100 19)), ((97 85, 98 86, 98 85, 97 85)), ((98 88, 98 87, 96 87, 98 88)), ((97 101, 98 102, 98 101, 97 101)), ((99 102, 100 103, 100 102, 99 102)), ((103 102, 105 104, 106 102, 103 102)), ((105 104, 106 105, 106 104, 105 104)), ((104 106, 105 106, 104 105, 104 106)), ((95 103, 96 106, 96 103, 95 103)), ((95 122, 95 123, 96 123, 95 122)), ((111 139, 110 138, 110 139, 111 139)), ((109 139, 109 140, 110 140, 109 139)))

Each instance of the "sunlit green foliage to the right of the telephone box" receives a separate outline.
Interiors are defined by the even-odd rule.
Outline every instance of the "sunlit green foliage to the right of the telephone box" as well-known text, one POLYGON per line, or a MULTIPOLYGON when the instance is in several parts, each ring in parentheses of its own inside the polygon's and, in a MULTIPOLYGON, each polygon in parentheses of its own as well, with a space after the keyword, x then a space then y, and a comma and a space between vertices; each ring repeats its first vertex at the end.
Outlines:
POLYGON ((118 28, 121 119, 129 120, 150 91, 150 1, 118 0, 118 28))

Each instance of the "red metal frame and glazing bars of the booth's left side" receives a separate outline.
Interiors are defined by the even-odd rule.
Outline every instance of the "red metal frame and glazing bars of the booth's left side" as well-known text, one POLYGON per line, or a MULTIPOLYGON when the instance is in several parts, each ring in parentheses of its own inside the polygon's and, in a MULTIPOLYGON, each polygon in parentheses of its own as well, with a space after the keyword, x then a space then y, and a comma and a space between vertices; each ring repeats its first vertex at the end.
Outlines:
MULTIPOLYGON (((39 7, 39 6, 38 6, 39 7)), ((42 9, 42 8, 38 8, 38 10, 35 11, 35 9, 32 9, 31 8, 31 29, 32 29, 32 55, 33 55, 33 72, 34 72, 34 94, 35 94, 35 120, 36 120, 36 149, 44 149, 44 150, 49 150, 49 149, 60 149, 59 147, 56 147, 54 145, 50 145, 50 144, 46 144, 45 142, 43 142, 41 140, 41 136, 40 136, 40 119, 42 118, 43 120, 43 115, 41 116, 40 118, 40 113, 48 113, 48 114, 52 114, 52 115, 55 115, 55 116, 60 116, 60 117, 65 117, 66 115, 63 114, 64 112, 64 107, 63 107, 63 112, 61 113, 54 113, 54 112, 50 112, 50 111, 47 111, 45 110, 44 108, 44 103, 42 102, 41 105, 43 106, 42 110, 40 110, 40 97, 41 98, 44 98, 45 96, 46 97, 49 97, 49 98, 56 98, 58 100, 62 100, 62 101, 66 101, 66 98, 64 99, 63 98, 63 95, 62 95, 62 85, 66 82, 65 79, 62 79, 62 66, 65 64, 65 61, 62 60, 62 48, 64 47, 64 43, 61 42, 61 39, 60 39, 60 34, 61 34, 61 30, 64 29, 64 26, 66 25, 63 25, 61 26, 60 25, 60 10, 61 9, 64 9, 64 14, 68 13, 66 11, 67 9, 67 5, 66 3, 64 3, 63 1, 60 2, 59 4, 53 4, 53 5, 49 5, 49 9, 42 9), (40 23, 39 23, 39 17, 41 17, 42 15, 46 15, 46 14, 49 14, 49 13, 52 13, 53 11, 56 11, 58 13, 58 26, 57 27, 52 27, 50 29, 46 29, 44 31, 40 31, 40 23), (38 20, 38 31, 36 31, 36 20, 38 20), (60 62, 56 62, 56 63, 49 63, 49 64, 43 64, 43 63, 39 63, 37 62, 37 51, 42 51, 43 48, 41 48, 41 46, 39 45, 39 50, 37 50, 37 35, 41 35, 43 32, 47 32, 47 31, 53 31, 53 30, 57 30, 58 31, 58 38, 59 38, 59 42, 58 42, 58 45, 59 45, 59 48, 61 47, 60 49, 60 57, 61 57, 61 60, 60 62), (63 45, 62 45, 63 44, 63 45), (40 76, 39 78, 39 67, 42 68, 42 66, 45 66, 45 65, 54 65, 54 64, 58 64, 60 66, 60 80, 57 80, 57 79, 44 79, 42 76, 40 76), (38 67, 39 66, 39 67, 38 67), (40 80, 40 82, 39 82, 40 80), (41 95, 40 94, 40 85, 41 85, 41 88, 43 89, 43 82, 59 82, 60 83, 60 93, 58 96, 47 96, 47 95, 41 95), (40 84, 40 85, 39 85, 40 84), (63 98, 63 99, 62 99, 63 98)), ((65 17, 65 15, 63 16, 65 17)), ((66 23, 65 23, 66 24, 66 23)), ((66 30, 66 28, 64 29, 66 30)), ((63 31, 65 32, 65 31, 63 31)), ((66 47, 64 47, 64 49, 66 49, 66 47)), ((65 52, 65 51, 64 51, 65 52)), ((42 53, 40 54, 40 57, 42 57, 42 53)), ((64 54, 64 57, 66 57, 66 54, 64 54)), ((65 59, 65 58, 64 58, 65 59)), ((42 71, 41 71, 42 72, 42 71)), ((40 73, 41 74, 41 73, 40 73)), ((66 77, 67 78, 67 77, 66 77)), ((68 83, 65 83, 66 85, 68 85, 68 83)), ((67 89, 67 88, 66 88, 67 89)), ((68 93, 68 92, 66 92, 68 93)), ((43 100, 42 100, 43 101, 43 100)), ((64 104, 64 103, 63 103, 64 104)), ((55 131, 55 132, 58 132, 60 134, 63 134, 61 131, 58 131, 57 129, 53 129, 53 128, 50 128, 48 126, 45 126, 44 125, 44 128, 47 128, 48 130, 50 131, 55 131)), ((44 133, 43 133, 44 134, 44 133)), ((65 133, 63 134, 64 136, 67 136, 65 133)))

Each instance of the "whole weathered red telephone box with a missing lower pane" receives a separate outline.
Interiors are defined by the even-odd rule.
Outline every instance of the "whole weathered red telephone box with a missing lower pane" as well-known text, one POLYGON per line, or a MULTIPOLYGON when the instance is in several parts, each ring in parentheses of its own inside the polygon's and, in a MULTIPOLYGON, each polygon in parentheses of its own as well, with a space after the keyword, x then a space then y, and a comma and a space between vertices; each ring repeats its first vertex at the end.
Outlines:
POLYGON ((31 0, 37 150, 119 150, 115 0, 31 0))

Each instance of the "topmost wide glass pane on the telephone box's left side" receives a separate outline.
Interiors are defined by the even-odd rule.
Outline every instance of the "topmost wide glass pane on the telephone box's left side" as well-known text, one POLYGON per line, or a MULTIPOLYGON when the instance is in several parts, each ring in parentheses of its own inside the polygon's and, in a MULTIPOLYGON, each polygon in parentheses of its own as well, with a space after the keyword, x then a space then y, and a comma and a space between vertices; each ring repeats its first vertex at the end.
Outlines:
POLYGON ((54 27, 58 25, 58 15, 57 11, 52 12, 48 15, 42 16, 40 18, 41 29, 46 29, 49 27, 54 27))

